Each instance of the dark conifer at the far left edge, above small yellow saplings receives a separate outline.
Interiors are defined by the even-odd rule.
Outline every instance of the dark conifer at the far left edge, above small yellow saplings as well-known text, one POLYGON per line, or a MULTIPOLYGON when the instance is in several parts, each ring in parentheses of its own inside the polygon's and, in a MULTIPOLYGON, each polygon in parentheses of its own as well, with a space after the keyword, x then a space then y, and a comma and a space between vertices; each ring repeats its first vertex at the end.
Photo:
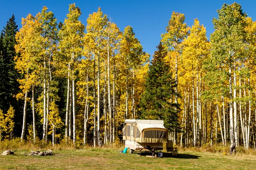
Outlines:
POLYGON ((0 108, 3 112, 9 109, 9 105, 17 105, 17 101, 13 99, 13 95, 17 94, 19 84, 17 82, 18 74, 15 70, 14 57, 15 52, 15 34, 17 33, 17 25, 15 17, 12 17, 7 21, 6 27, 4 27, 0 38, 0 108))

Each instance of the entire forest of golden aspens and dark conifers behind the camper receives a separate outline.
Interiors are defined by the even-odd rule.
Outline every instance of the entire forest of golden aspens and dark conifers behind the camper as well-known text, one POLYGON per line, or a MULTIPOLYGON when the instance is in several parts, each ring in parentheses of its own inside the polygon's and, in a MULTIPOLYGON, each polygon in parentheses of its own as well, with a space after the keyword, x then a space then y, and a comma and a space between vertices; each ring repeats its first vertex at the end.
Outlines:
POLYGON ((198 19, 173 12, 150 55, 133 28, 101 8, 86 26, 69 6, 64 23, 42 11, 14 15, 0 36, 0 140, 122 140, 125 119, 163 119, 180 147, 221 143, 256 149, 256 22, 224 4, 206 36, 198 19))

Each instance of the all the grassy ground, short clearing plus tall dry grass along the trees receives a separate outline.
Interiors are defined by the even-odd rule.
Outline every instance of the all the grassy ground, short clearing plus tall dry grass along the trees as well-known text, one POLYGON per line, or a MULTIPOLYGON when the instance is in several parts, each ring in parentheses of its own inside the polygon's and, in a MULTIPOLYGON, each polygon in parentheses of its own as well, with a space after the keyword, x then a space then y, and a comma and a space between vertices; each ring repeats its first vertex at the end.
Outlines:
MULTIPOLYGON (((135 170, 166 170, 166 169, 255 169, 256 156, 253 150, 246 151, 242 147, 236 155, 224 154, 228 147, 204 146, 201 148, 179 148, 178 157, 166 153, 163 158, 148 158, 145 153, 119 153, 124 149, 122 144, 93 148, 90 146, 73 149, 72 144, 21 143, 19 140, 0 142, 0 152, 6 149, 15 150, 15 155, 0 156, 0 170, 81 170, 81 169, 135 169, 135 170), (29 156, 32 150, 53 150, 54 156, 29 156)), ((148 153, 149 155, 149 153, 148 153)))

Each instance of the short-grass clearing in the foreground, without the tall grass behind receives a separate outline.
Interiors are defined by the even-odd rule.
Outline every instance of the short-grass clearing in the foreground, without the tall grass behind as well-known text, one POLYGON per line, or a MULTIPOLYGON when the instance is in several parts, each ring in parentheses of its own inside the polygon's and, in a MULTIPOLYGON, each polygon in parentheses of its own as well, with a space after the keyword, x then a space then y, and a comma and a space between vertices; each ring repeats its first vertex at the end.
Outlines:
MULTIPOLYGON (((43 150, 41 150, 43 151, 43 150)), ((256 169, 256 156, 224 156, 221 153, 179 151, 178 157, 148 158, 145 153, 119 153, 113 149, 56 150, 53 156, 29 156, 29 150, 0 156, 0 169, 17 170, 166 170, 166 169, 256 169)), ((149 152, 148 152, 148 155, 149 152)))

